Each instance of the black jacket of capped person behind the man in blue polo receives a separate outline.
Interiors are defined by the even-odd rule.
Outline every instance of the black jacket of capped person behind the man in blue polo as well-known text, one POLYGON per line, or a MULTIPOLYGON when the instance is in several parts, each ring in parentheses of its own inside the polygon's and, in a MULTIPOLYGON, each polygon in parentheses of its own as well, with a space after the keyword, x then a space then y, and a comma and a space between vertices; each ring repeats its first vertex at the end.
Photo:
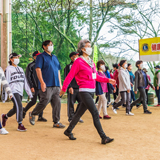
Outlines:
POLYGON ((28 64, 26 68, 26 78, 30 88, 38 89, 38 77, 35 69, 35 60, 28 64))

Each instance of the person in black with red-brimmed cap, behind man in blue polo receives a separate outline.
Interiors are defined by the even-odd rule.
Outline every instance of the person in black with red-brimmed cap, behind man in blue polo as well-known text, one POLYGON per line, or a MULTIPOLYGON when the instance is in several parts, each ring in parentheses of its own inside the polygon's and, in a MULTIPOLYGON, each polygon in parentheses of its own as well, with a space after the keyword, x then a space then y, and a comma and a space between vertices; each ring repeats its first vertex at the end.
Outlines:
MULTIPOLYGON (((27 78, 28 84, 30 86, 30 89, 33 93, 33 98, 27 104, 27 106, 25 108, 23 108, 23 118, 25 118, 26 112, 32 106, 34 106, 36 104, 37 97, 40 99, 39 90, 38 90, 38 77, 37 77, 37 73, 36 73, 36 70, 35 70, 36 58, 40 54, 41 53, 39 53, 38 51, 35 51, 32 54, 32 57, 34 58, 34 61, 29 63, 27 68, 26 68, 26 78, 27 78)), ((39 114, 38 121, 47 122, 47 120, 43 117, 43 111, 39 114)))

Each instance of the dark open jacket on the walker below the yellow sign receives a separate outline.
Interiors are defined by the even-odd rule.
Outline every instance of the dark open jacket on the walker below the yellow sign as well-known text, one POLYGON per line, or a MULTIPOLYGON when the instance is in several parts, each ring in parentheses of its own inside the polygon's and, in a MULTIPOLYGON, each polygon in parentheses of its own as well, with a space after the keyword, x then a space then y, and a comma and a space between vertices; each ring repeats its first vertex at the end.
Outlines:
MULTIPOLYGON (((147 75, 146 75, 147 77, 147 75)), ((153 88, 153 85, 147 78, 147 86, 150 85, 153 88)), ((134 91, 137 91, 138 87, 145 87, 145 82, 144 82, 144 76, 142 73, 141 69, 138 69, 135 72, 135 85, 134 85, 134 91)))

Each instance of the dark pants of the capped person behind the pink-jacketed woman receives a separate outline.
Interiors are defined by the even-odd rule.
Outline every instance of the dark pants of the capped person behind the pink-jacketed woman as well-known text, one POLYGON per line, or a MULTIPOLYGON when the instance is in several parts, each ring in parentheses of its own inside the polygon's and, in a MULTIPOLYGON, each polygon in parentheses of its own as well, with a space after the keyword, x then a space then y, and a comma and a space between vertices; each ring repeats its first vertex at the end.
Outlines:
POLYGON ((75 115, 75 113, 77 112, 80 103, 81 103, 81 99, 80 99, 80 95, 79 95, 79 89, 74 89, 74 93, 70 94, 69 92, 67 92, 67 107, 68 107, 68 121, 71 121, 75 115), (78 102, 77 105, 77 109, 74 112, 74 104, 75 102, 78 102))

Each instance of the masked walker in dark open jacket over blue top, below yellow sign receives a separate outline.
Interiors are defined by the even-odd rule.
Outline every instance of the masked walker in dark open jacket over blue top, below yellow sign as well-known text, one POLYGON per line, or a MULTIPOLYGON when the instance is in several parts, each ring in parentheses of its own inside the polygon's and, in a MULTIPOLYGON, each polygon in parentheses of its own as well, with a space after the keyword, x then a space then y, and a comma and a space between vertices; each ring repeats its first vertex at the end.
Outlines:
POLYGON ((137 89, 138 89, 139 93, 140 93, 140 97, 131 104, 131 110, 132 110, 133 106, 137 105, 138 103, 140 103, 142 101, 144 113, 145 114, 152 114, 152 112, 150 112, 147 109, 147 96, 146 96, 145 88, 148 85, 150 85, 153 89, 155 89, 155 88, 151 84, 151 82, 148 80, 146 73, 142 70, 143 69, 143 61, 141 61, 141 60, 137 61, 136 67, 138 68, 138 70, 135 72, 134 92, 135 92, 135 94, 137 94, 137 89))

